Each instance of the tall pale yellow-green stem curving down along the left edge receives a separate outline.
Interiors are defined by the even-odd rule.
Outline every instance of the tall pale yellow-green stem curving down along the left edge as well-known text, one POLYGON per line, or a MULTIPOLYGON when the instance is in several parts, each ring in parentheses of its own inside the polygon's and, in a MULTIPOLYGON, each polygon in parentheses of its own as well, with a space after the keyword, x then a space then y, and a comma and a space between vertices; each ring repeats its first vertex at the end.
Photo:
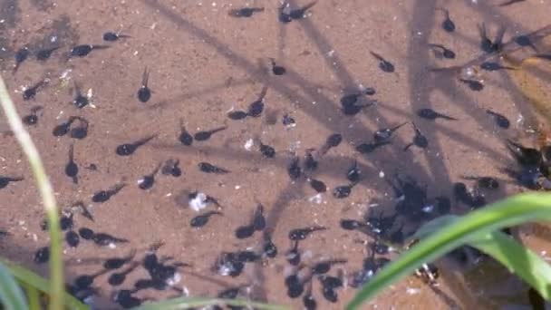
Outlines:
POLYGON ((4 79, 0 76, 0 104, 5 113, 5 118, 14 131, 15 139, 19 142, 21 149, 29 160, 31 170, 33 170, 36 185, 40 191, 43 200, 43 208, 48 218, 48 230, 50 231, 50 276, 52 277, 52 291, 50 309, 63 309, 63 259, 62 259, 62 234, 57 214, 57 205, 53 196, 53 189, 48 175, 44 170, 42 160, 38 150, 34 146, 33 140, 21 122, 21 117, 17 114, 14 102, 5 87, 4 79))

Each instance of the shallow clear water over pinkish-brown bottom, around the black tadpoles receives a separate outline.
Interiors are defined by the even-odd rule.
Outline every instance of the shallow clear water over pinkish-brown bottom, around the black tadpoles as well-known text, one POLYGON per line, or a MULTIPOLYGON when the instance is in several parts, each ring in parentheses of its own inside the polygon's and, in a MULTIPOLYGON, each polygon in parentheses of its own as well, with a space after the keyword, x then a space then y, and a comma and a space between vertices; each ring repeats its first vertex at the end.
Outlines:
MULTIPOLYGON (((277 21, 277 2, 249 3, 266 5, 263 12, 250 18, 227 14, 244 4, 154 0, 0 3, 2 75, 22 116, 36 105, 43 106, 37 112, 38 123, 28 129, 41 151, 60 206, 82 200, 95 221, 76 215, 77 228, 90 227, 131 240, 114 249, 83 241, 77 248, 67 247, 64 258, 68 280, 98 271, 105 258, 124 256, 131 248, 142 255, 161 239, 165 246, 160 248, 160 255, 192 265, 181 269, 183 279, 178 284, 185 286, 189 294, 217 295, 227 286, 249 285, 248 293, 255 300, 299 308, 300 298, 288 298, 284 286, 288 264, 283 254, 291 247, 289 230, 314 225, 328 228, 301 241, 301 250, 307 252, 303 253, 304 261, 346 258, 348 262, 334 266, 330 274, 335 276, 341 270, 350 275, 362 267, 367 255, 366 248, 355 239, 367 237, 343 230, 339 221, 361 219, 370 208, 376 214, 394 214, 394 193, 387 181, 395 174, 412 176, 427 188, 429 198, 451 198, 452 183, 464 175, 501 180, 498 190, 483 191, 488 202, 520 190, 501 172, 513 163, 503 141, 526 138, 526 131, 535 129, 538 120, 515 79, 504 71, 482 72, 485 87, 474 92, 459 82, 459 70, 429 69, 460 69, 485 58, 478 47, 477 29, 483 21, 490 38, 499 25, 506 26, 506 43, 518 34, 541 30, 535 44, 548 52, 545 27, 549 2, 528 0, 499 7, 497 1, 372 0, 366 5, 362 1, 320 0, 306 18, 289 24, 277 21), (435 8, 442 6, 449 9, 456 24, 454 33, 440 27, 444 15, 435 8), (102 34, 107 31, 121 31, 131 37, 105 43, 102 34), (109 48, 67 59, 77 44, 106 44, 109 48), (438 59, 428 44, 442 44, 453 50, 456 58, 438 59), (60 48, 43 63, 30 56, 13 73, 14 51, 25 45, 32 53, 60 48), (393 63, 395 71, 383 72, 370 51, 393 63), (269 58, 284 66, 285 74, 270 74, 269 58), (150 72, 148 87, 152 94, 149 102, 142 103, 136 93, 145 67, 150 72), (34 99, 24 101, 23 88, 44 78, 49 82, 34 99), (92 94, 92 104, 81 110, 72 104, 73 82, 78 83, 82 94, 92 94), (227 111, 232 109, 247 111, 264 85, 267 92, 261 117, 244 121, 227 118, 227 111), (357 92, 359 87, 373 87, 376 93, 360 101, 375 99, 377 104, 355 116, 343 115, 340 98, 357 92), (420 119, 415 111, 421 108, 432 108, 459 121, 420 119), (507 116, 511 128, 500 129, 487 109, 507 116), (285 114, 295 119, 295 127, 282 124, 285 114), (53 127, 73 115, 89 121, 88 137, 54 137, 53 127), (184 146, 178 140, 180 121, 192 134, 220 126, 227 126, 227 130, 184 146), (411 126, 404 126, 392 135, 389 145, 369 154, 355 150, 357 145, 372 140, 373 131, 403 121, 415 121, 429 140, 427 149, 411 147, 403 151, 414 134, 411 126), (327 137, 337 132, 343 135, 343 142, 327 151, 311 176, 328 187, 316 198, 317 193, 304 177, 289 179, 286 170, 292 160, 291 151, 302 159, 306 150, 320 149, 327 137), (157 137, 131 156, 115 154, 118 145, 153 134, 157 137), (260 141, 275 148, 275 158, 261 154, 260 141), (80 168, 78 184, 64 174, 67 152, 73 143, 74 160, 80 168), (158 174, 152 189, 140 189, 138 180, 169 159, 179 160, 182 176, 158 174), (346 171, 353 160, 359 163, 362 179, 348 198, 334 199, 331 191, 348 184, 346 171), (231 172, 203 173, 198 170, 198 163, 203 161, 231 172), (91 164, 97 170, 86 169, 91 164), (109 201, 92 203, 95 192, 121 182, 128 185, 109 201), (218 199, 224 213, 198 229, 189 227, 189 220, 198 214, 188 207, 185 196, 183 203, 177 199, 182 191, 195 190, 218 199), (280 254, 262 264, 247 264, 244 274, 237 278, 216 275, 211 266, 220 252, 261 247, 260 233, 243 240, 234 237, 234 230, 247 224, 257 203, 265 207, 266 229, 280 254)), ((304 4, 291 2, 293 7, 304 4)), ((507 44, 506 49, 522 58, 532 53, 529 47, 518 50, 515 44, 507 44)), ((541 81, 548 84, 545 76, 541 81)), ((4 121, 0 129, 7 130, 4 121)), ((45 275, 46 266, 33 263, 34 251, 48 243, 47 234, 40 228, 40 199, 16 141, 9 135, 2 140, 2 174, 23 176, 24 181, 0 190, 0 228, 10 233, 1 237, 0 248, 5 256, 45 275)), ((474 181, 466 183, 471 187, 474 181)), ((206 210, 212 209, 215 207, 206 210)), ((457 203, 451 209, 458 214, 468 210, 457 203)), ((401 214, 392 229, 403 225, 410 233, 421 221, 401 214)), ((546 242, 538 242, 536 248, 549 250, 546 242)), ((527 307, 527 287, 491 264, 484 262, 484 267, 478 267, 443 262, 436 290, 411 276, 385 291, 370 307, 527 307), (492 276, 485 276, 487 272, 492 276), (496 282, 482 284, 482 279, 496 282), (507 283, 507 288, 490 289, 497 283, 507 283)), ((133 272, 121 287, 129 288, 144 276, 142 269, 133 272)), ((101 293, 95 298, 97 305, 111 305, 114 289, 106 281, 107 276, 99 276, 94 282, 101 293)), ((319 282, 314 281, 320 308, 335 309, 343 308, 355 292, 352 288, 339 289, 339 302, 329 304, 320 290, 319 282)), ((137 295, 160 299, 175 294, 148 290, 137 295)))

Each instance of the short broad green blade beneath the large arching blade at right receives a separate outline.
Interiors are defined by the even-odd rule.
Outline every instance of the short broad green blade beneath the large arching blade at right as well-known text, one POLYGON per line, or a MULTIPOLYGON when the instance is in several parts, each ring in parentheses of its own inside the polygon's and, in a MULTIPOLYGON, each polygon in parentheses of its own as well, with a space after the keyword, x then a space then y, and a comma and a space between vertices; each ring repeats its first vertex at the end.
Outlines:
POLYGON ((494 231, 472 243, 480 251, 494 257, 503 266, 520 276, 546 300, 551 296, 551 266, 529 248, 522 246, 501 231, 494 231))

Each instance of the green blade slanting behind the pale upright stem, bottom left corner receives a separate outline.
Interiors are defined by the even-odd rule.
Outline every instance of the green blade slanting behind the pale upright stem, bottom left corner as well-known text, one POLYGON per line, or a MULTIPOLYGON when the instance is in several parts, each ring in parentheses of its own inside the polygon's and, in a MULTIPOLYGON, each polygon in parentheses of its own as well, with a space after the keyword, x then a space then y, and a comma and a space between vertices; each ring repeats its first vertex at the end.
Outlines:
MULTIPOLYGON (((0 257, 0 263, 5 264, 5 266, 10 269, 14 277, 25 284, 34 286, 37 290, 43 292, 44 294, 50 295, 52 293, 52 287, 48 280, 44 279, 42 276, 38 276, 33 271, 19 266, 14 262, 11 262, 3 257, 0 257)), ((64 305, 71 309, 75 310, 88 310, 88 305, 84 305, 78 299, 74 298, 72 295, 67 293, 64 294, 64 305)))

